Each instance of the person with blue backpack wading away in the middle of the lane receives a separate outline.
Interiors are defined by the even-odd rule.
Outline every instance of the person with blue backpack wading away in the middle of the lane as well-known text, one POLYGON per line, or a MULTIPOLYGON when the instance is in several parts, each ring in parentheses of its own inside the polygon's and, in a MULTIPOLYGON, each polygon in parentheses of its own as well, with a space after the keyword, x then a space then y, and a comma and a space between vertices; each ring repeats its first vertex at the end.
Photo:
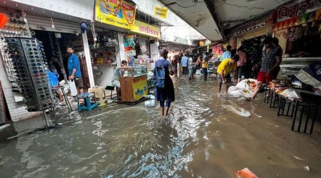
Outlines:
MULTIPOLYGON (((161 50, 161 52, 159 54, 160 57, 155 62, 155 69, 154 69, 154 78, 159 77, 157 75, 159 73, 161 73, 161 70, 157 71, 157 69, 159 69, 159 67, 163 66, 163 68, 165 70, 164 71, 165 72, 164 87, 155 87, 155 98, 156 98, 156 101, 160 102, 161 115, 163 117, 168 116, 171 102, 175 100, 174 85, 173 85, 173 81, 170 77, 170 75, 174 75, 174 72, 172 70, 172 67, 171 67, 169 61, 166 60, 168 53, 169 53, 169 51, 167 51, 167 49, 161 50), (157 67, 157 69, 156 69, 156 67, 157 67), (165 101, 166 101, 166 105, 165 105, 165 101)), ((156 79, 156 82, 157 82, 157 79, 156 79)))

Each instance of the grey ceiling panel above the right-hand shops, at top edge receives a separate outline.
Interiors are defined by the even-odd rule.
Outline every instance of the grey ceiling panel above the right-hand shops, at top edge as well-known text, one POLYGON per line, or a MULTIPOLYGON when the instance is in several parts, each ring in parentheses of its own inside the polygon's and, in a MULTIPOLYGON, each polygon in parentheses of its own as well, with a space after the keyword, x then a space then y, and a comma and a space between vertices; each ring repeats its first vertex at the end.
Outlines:
POLYGON ((228 28, 267 13, 292 0, 212 0, 218 18, 228 28))

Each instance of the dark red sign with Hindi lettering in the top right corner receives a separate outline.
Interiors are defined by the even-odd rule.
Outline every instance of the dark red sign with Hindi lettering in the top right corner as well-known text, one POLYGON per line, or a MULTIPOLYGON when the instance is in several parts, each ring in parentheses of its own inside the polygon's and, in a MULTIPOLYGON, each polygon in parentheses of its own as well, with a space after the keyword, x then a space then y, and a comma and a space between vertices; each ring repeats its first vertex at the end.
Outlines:
POLYGON ((321 0, 297 0, 293 3, 281 6, 277 10, 277 22, 285 21, 299 16, 302 13, 309 13, 321 8, 321 0))

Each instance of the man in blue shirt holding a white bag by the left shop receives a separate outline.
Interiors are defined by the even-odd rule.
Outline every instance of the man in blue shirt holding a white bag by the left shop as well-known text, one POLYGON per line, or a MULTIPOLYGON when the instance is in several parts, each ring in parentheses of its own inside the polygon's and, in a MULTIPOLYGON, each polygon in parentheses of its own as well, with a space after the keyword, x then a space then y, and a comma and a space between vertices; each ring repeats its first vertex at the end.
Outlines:
POLYGON ((69 54, 69 58, 68 58, 69 79, 72 79, 75 81, 78 94, 82 94, 84 92, 84 89, 83 89, 84 84, 81 78, 79 58, 77 55, 74 54, 73 47, 68 46, 67 53, 69 54))

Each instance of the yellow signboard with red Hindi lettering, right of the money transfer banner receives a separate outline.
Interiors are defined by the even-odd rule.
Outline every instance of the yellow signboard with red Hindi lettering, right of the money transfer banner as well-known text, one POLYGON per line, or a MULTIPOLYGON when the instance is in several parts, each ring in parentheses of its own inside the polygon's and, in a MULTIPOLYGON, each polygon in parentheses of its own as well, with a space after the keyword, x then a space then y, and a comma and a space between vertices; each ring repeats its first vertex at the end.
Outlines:
POLYGON ((155 27, 140 21, 135 21, 134 29, 131 32, 135 32, 138 34, 161 38, 161 32, 159 32, 159 27, 155 27))

